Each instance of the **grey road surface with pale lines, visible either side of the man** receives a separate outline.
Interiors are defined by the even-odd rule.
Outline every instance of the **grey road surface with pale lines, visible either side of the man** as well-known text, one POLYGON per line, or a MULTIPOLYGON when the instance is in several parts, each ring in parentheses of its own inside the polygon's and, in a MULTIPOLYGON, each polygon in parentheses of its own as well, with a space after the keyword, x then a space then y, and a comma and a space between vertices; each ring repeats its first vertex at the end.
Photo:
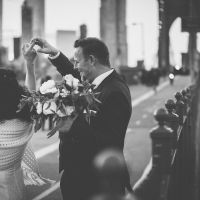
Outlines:
MULTIPOLYGON (((164 106, 167 99, 173 98, 177 91, 182 90, 190 83, 190 78, 181 76, 176 77, 174 85, 168 83, 168 79, 162 79, 155 94, 152 87, 144 85, 130 86, 133 113, 127 130, 125 139, 124 154, 129 166, 132 184, 141 176, 143 169, 151 156, 151 140, 149 138, 150 129, 155 126, 153 119, 155 109, 164 106), (162 87, 161 87, 162 86, 162 87)), ((47 131, 38 131, 32 139, 32 146, 38 157, 40 172, 43 177, 60 180, 58 173, 58 135, 47 139, 47 131), (50 153, 49 153, 50 152, 50 153)), ((61 198, 59 183, 52 190, 48 190, 49 186, 29 187, 28 199, 34 200, 59 200, 61 198), (45 193, 46 191, 46 193, 45 193), (44 196, 38 195, 44 192, 44 196), (50 194, 49 194, 50 193, 50 194), (38 198, 33 198, 38 196, 38 198)))

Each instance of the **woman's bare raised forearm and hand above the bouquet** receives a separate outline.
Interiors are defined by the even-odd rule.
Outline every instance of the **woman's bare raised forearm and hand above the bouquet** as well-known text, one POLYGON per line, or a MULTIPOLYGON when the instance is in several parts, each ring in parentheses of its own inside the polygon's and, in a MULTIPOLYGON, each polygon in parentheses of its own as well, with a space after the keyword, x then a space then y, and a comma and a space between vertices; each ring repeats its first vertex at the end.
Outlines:
POLYGON ((23 56, 26 63, 26 79, 25 86, 29 90, 36 90, 35 80, 35 58, 37 56, 36 51, 33 49, 34 44, 25 44, 22 47, 23 56))

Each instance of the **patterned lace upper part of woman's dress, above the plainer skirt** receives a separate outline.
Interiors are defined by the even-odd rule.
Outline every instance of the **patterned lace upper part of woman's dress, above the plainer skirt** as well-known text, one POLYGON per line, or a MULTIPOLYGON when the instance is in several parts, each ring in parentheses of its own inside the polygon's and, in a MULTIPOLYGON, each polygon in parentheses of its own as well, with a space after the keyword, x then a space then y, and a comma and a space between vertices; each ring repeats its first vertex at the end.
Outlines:
POLYGON ((17 119, 0 124, 0 171, 12 172, 21 166, 32 125, 17 119))

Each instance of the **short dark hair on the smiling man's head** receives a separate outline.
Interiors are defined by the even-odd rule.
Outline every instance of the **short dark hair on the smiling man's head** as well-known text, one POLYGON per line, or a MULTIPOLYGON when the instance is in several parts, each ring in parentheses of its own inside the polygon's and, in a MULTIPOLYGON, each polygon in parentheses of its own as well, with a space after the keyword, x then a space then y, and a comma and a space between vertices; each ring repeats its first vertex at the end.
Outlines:
POLYGON ((102 65, 110 66, 108 47, 98 38, 88 37, 76 40, 74 47, 82 47, 85 58, 93 55, 102 65))

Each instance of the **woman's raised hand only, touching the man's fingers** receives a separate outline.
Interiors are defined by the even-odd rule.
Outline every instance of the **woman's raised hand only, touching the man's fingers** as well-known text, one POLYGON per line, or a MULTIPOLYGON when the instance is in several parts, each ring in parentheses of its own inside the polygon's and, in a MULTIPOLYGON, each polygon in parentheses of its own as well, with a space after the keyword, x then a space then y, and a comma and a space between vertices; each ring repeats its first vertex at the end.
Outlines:
POLYGON ((26 43, 22 47, 22 54, 27 63, 32 64, 35 61, 37 53, 33 48, 34 44, 26 43))

